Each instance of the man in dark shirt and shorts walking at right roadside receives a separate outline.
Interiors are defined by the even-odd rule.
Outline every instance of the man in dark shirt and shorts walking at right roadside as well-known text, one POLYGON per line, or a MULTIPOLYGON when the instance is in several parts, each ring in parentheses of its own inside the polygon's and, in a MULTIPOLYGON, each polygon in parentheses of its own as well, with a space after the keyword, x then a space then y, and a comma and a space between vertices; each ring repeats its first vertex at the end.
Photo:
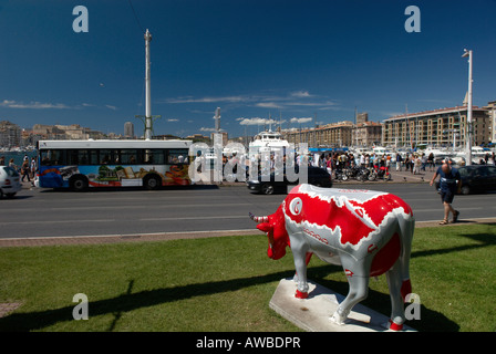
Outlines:
POLYGON ((444 206, 444 219, 440 225, 447 225, 450 212, 453 215, 453 222, 458 220, 459 211, 455 210, 452 206, 455 192, 459 192, 462 189, 462 178, 456 168, 452 167, 450 163, 443 163, 443 165, 437 168, 436 173, 431 179, 431 186, 434 184, 435 179, 440 176, 440 194, 441 200, 444 206))

